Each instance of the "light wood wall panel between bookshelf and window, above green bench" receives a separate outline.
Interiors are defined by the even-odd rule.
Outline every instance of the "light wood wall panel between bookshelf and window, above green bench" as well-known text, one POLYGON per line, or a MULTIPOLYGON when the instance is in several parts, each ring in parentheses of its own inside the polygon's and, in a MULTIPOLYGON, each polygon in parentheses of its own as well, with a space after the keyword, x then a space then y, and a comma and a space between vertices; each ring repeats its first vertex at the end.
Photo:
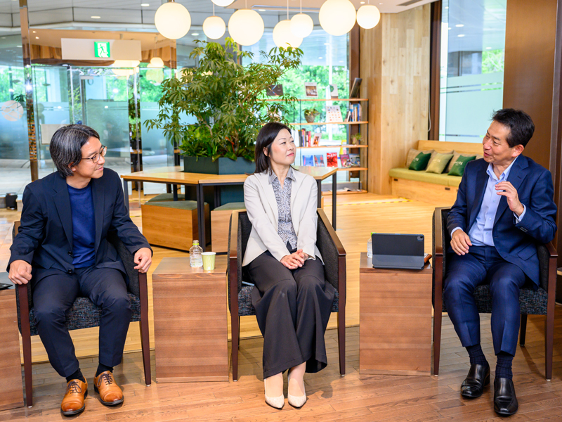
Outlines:
POLYGON ((369 98, 368 190, 391 193, 388 170, 427 139, 431 5, 383 13, 360 30, 361 96, 369 98))

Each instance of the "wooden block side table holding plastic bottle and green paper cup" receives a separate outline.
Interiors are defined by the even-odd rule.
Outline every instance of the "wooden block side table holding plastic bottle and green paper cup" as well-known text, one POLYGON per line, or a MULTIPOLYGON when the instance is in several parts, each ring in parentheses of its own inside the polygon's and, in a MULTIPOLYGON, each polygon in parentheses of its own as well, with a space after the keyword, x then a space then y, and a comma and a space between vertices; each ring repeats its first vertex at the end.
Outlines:
POLYGON ((152 274, 156 382, 228 381, 226 256, 164 258, 152 274))

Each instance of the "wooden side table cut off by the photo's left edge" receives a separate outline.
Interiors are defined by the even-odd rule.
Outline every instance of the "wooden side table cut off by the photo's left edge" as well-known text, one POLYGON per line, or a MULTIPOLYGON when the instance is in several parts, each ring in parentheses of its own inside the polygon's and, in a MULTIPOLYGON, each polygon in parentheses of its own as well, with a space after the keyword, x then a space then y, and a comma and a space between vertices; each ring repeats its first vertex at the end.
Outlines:
POLYGON ((22 362, 15 290, 0 290, 0 410, 23 407, 22 362))

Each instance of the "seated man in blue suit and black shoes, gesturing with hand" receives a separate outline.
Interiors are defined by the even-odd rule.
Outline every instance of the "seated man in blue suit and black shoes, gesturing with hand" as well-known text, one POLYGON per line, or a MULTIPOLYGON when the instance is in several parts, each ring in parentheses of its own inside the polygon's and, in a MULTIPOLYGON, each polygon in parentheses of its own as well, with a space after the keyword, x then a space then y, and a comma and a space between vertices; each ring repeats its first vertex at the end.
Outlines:
POLYGON ((447 219, 451 247, 443 294, 471 364, 461 395, 480 397, 490 383, 473 297, 476 286, 486 283, 497 356, 494 409, 501 415, 518 409, 511 364, 521 320, 519 289, 525 283, 537 289, 537 243, 548 243, 556 232, 551 174, 522 155, 534 131, 530 116, 521 110, 504 108, 492 116, 483 139, 484 158, 466 165, 447 219))

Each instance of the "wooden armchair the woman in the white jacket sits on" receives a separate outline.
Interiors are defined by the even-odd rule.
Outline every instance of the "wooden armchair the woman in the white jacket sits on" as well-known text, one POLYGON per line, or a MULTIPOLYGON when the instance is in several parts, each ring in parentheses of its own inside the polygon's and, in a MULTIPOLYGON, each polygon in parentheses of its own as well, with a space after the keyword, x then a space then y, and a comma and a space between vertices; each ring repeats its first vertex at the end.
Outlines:
MULTIPOLYGON (((326 281, 336 289, 332 312, 338 313, 339 373, 346 374, 346 251, 324 211, 318 209, 316 246, 324 260, 326 281)), ((247 212, 233 211, 228 236, 228 305, 232 321, 233 381, 238 381, 240 316, 255 315, 251 305, 253 286, 242 286, 242 258, 251 232, 247 212)))

